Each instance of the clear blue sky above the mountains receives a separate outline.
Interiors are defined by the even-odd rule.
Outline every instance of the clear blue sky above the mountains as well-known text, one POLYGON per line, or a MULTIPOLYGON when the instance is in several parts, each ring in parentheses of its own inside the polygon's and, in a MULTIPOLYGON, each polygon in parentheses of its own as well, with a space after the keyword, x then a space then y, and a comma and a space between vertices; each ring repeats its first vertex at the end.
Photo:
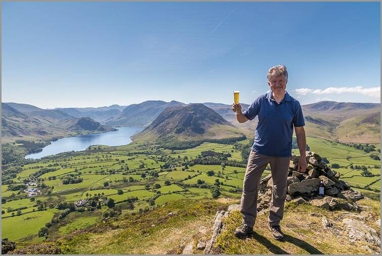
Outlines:
POLYGON ((2 102, 380 102, 380 3, 2 3, 2 102))

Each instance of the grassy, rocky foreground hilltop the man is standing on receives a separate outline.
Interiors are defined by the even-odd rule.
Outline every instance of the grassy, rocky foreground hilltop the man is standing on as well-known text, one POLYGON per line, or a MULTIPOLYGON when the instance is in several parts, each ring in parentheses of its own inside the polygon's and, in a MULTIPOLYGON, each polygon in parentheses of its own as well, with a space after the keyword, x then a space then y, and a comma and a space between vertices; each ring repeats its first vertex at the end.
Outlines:
POLYGON ((286 202, 281 221, 286 235, 284 242, 272 238, 267 229, 267 214, 258 216, 253 236, 235 238, 233 231, 240 226, 241 215, 234 203, 238 200, 172 201, 146 213, 111 218, 63 237, 24 248, 19 246, 9 253, 203 254, 214 236, 211 254, 373 254, 372 249, 379 247, 359 234, 360 240, 354 240, 349 233, 351 229, 344 224, 344 220, 365 223, 365 227, 379 234, 378 201, 358 201, 362 207, 360 214, 286 202), (228 208, 230 204, 236 207, 228 208), (330 226, 326 227, 326 223, 330 226))

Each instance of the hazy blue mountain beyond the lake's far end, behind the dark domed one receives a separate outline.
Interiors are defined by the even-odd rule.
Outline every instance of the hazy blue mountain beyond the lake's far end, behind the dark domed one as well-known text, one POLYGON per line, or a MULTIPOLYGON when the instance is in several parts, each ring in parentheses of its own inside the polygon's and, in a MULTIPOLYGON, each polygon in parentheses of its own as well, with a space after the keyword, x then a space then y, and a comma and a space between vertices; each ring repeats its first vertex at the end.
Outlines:
POLYGON ((184 106, 178 101, 145 101, 127 106, 119 115, 105 120, 106 124, 113 126, 148 126, 165 108, 171 106, 184 106))

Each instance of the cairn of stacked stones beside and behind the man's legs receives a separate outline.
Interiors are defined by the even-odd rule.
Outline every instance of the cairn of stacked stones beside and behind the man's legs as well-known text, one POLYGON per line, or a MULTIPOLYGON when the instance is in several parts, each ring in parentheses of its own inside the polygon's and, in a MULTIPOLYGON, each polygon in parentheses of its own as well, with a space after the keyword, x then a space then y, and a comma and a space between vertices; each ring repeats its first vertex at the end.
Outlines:
MULTIPOLYGON (((300 156, 293 155, 290 161, 287 201, 308 202, 314 199, 324 199, 319 195, 321 181, 324 185, 325 199, 338 197, 349 200, 351 196, 363 197, 358 191, 349 190, 350 185, 339 180, 340 174, 330 169, 318 154, 310 151, 306 152, 308 166, 305 172, 298 172, 297 163, 299 160, 300 156)), ((271 178, 271 175, 268 175, 260 181, 258 210, 269 207, 273 186, 271 178)))

